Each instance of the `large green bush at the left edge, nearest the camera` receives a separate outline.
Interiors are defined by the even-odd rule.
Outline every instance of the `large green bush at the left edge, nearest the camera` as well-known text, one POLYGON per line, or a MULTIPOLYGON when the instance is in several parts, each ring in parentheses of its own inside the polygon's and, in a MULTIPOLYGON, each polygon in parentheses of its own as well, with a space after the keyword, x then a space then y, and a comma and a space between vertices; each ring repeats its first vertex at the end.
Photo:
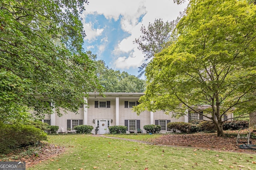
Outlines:
POLYGON ((0 134, 0 153, 3 154, 8 154, 19 147, 47 140, 47 134, 32 125, 5 124, 1 121, 0 134))

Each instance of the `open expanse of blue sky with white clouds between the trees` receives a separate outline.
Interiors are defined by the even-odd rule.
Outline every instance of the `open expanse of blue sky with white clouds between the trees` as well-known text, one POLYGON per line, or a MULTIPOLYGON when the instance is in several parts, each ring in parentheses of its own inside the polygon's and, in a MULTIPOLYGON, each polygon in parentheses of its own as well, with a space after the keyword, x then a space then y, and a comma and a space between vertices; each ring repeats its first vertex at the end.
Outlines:
POLYGON ((186 8, 173 0, 89 0, 82 14, 84 49, 97 55, 114 70, 138 76, 144 55, 133 41, 155 19, 175 20, 186 8))

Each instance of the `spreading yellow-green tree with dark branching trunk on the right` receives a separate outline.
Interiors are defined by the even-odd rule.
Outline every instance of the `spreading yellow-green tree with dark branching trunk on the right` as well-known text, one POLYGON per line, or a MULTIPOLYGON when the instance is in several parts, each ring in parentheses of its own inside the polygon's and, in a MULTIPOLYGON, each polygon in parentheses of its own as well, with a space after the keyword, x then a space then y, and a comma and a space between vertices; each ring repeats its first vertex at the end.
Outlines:
POLYGON ((245 0, 191 0, 178 39, 147 66, 146 95, 135 111, 179 117, 190 109, 224 136, 224 114, 256 110, 255 16, 256 6, 245 0))

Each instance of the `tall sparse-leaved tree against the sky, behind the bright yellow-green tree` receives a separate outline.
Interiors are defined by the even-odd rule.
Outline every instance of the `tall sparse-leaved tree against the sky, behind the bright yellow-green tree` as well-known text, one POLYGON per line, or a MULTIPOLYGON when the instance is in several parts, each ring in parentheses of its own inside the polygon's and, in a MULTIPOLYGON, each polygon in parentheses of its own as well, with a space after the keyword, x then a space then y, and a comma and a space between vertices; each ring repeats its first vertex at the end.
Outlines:
MULTIPOLYGON (((138 49, 145 55, 145 61, 150 60, 155 54, 162 51, 162 49, 168 46, 167 42, 170 41, 170 35, 175 27, 176 21, 168 22, 162 21, 162 19, 156 19, 154 23, 149 23, 148 29, 142 25, 140 31, 142 35, 140 38, 135 39, 133 43, 138 44, 138 49)), ((139 67, 139 75, 141 77, 144 72, 147 63, 143 63, 139 67)))

